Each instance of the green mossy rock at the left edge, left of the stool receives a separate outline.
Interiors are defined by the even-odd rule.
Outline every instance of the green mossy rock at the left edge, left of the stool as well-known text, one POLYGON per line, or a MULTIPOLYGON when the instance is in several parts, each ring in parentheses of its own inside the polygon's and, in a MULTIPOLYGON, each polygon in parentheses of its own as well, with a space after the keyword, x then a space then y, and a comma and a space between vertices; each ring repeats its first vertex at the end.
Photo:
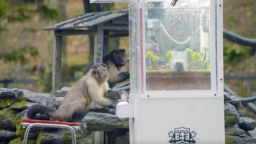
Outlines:
POLYGON ((18 111, 11 108, 4 108, 0 111, 0 128, 6 130, 16 130, 14 119, 18 111))

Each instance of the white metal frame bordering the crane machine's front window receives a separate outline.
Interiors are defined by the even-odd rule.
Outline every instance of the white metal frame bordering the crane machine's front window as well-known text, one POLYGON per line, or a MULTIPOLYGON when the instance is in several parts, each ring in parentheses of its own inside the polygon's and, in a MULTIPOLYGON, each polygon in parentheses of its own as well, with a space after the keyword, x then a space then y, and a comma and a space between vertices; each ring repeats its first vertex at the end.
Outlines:
MULTIPOLYGON (((162 1, 162 0, 154 0, 162 1)), ((163 0, 165 1, 165 0, 163 0)), ((151 91, 146 90, 146 62, 145 62, 145 3, 141 1, 139 9, 142 9, 143 21, 143 89, 140 86, 141 98, 171 98, 171 97, 214 97, 223 96, 223 16, 222 7, 223 0, 210 0, 210 61, 211 61, 211 89, 210 90, 163 90, 151 91), (218 2, 217 2, 218 1, 218 2), (217 4, 218 3, 218 4, 217 4), (216 19, 216 16, 219 19, 216 19), (216 34, 217 29, 217 34, 216 34), (216 39, 216 36, 218 39, 216 39), (216 45, 217 44, 217 45, 216 45), (216 51, 218 53, 216 53, 216 51), (217 54, 217 56, 216 56, 217 54), (216 59, 217 58, 217 59, 216 59), (217 62, 217 63, 216 63, 217 62), (222 79, 222 81, 221 81, 222 79), (148 97, 150 96, 150 97, 148 97)), ((141 77, 141 75, 140 75, 141 77)))

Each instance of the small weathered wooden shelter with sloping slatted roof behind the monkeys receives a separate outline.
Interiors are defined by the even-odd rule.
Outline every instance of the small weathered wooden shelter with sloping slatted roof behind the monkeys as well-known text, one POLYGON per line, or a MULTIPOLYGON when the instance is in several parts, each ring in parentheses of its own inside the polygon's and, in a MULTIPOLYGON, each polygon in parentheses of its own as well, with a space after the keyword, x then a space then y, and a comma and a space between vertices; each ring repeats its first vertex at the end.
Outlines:
POLYGON ((108 54, 108 38, 129 36, 128 10, 79 14, 73 19, 46 27, 54 30, 52 96, 60 90, 62 37, 94 35, 94 63, 108 54))

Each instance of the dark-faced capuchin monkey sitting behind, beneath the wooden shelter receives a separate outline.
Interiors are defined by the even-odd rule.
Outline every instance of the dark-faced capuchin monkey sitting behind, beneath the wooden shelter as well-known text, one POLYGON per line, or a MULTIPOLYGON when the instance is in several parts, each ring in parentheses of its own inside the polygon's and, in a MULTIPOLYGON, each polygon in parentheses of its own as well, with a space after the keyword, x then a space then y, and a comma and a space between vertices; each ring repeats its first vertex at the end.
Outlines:
MULTIPOLYGON (((125 55, 125 49, 112 50, 110 54, 103 57, 102 63, 107 65, 110 73, 110 77, 108 79, 110 88, 113 88, 115 83, 120 83, 130 78, 129 72, 121 72, 121 67, 123 67, 126 62, 127 58, 125 55)), ((85 69, 84 75, 88 73, 92 65, 93 61, 85 69)))

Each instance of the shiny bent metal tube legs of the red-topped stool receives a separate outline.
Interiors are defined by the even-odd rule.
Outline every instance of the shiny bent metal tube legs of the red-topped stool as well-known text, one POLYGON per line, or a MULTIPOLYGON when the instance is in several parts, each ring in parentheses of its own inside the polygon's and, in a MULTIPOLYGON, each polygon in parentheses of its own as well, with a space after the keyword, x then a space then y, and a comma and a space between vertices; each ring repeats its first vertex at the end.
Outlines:
POLYGON ((68 126, 68 125, 56 125, 56 124, 46 124, 46 123, 33 123, 31 125, 29 125, 26 129, 25 135, 24 135, 24 139, 23 139, 23 144, 26 144, 27 142, 27 137, 29 135, 29 131, 32 127, 55 127, 55 128, 65 128, 65 129, 69 129, 71 131, 71 140, 72 140, 72 144, 77 144, 76 139, 75 139, 75 131, 72 127, 68 126))

